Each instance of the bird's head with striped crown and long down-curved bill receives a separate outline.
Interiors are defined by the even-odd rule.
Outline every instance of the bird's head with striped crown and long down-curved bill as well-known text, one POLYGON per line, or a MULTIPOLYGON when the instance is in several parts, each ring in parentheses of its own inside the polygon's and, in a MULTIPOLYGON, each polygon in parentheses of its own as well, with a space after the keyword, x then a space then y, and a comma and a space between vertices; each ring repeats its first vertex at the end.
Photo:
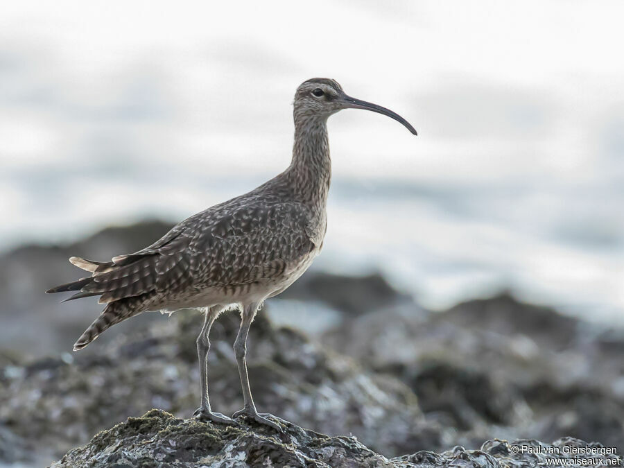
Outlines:
POLYGON ((343 87, 329 78, 312 78, 304 81, 295 93, 295 121, 309 119, 327 119, 343 109, 365 109, 387 115, 406 126, 413 135, 416 130, 406 119, 390 109, 360 99, 347 96, 343 87))

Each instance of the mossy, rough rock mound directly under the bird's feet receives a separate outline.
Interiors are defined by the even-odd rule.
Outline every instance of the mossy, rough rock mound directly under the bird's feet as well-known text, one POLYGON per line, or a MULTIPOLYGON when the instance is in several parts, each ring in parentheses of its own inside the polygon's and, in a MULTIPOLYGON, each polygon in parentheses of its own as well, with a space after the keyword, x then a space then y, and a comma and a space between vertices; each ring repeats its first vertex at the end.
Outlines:
POLYGON ((213 425, 150 410, 98 433, 52 467, 392 466, 355 437, 328 437, 288 422, 280 422, 284 433, 246 423, 213 425))

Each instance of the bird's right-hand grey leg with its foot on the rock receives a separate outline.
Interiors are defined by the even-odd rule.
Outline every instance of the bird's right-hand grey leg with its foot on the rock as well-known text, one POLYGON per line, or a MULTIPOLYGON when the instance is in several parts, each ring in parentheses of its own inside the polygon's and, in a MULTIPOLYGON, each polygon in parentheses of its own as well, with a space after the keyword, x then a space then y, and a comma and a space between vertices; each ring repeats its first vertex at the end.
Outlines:
POLYGON ((274 428, 276 431, 282 432, 283 430, 280 426, 266 418, 266 416, 272 415, 268 413, 258 413, 249 386, 247 361, 245 361, 245 355, 247 354, 247 336, 251 322, 254 320, 258 309, 259 304, 248 304, 243 307, 243 311, 241 312, 241 328, 239 329, 239 334, 236 335, 236 341, 234 341, 234 354, 236 354, 236 363, 239 365, 239 375, 241 376, 241 385, 243 386, 243 401, 245 406, 242 410, 236 411, 232 417, 246 415, 260 424, 265 424, 266 426, 274 428))

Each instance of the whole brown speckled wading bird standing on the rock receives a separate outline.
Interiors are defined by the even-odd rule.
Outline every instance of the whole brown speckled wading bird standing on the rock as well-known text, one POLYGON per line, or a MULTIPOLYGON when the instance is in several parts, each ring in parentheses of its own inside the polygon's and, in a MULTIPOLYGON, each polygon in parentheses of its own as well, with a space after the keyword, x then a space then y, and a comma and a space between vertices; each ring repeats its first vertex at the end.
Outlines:
POLYGON ((223 424, 250 417, 283 431, 275 422, 279 418, 258 413, 254 404, 246 363, 247 336, 263 302, 291 286, 323 247, 331 180, 327 119, 343 109, 384 114, 417 135, 399 114, 348 96, 336 80, 304 81, 295 92, 293 155, 285 171, 244 195, 183 220, 138 252, 111 261, 69 259, 91 275, 46 293, 78 291, 65 301, 99 296, 98 303, 105 304, 73 350, 83 349, 106 329, 139 313, 200 309, 204 313, 197 338, 201 400, 193 416, 223 424), (212 324, 232 308, 241 314, 234 354, 243 408, 230 418, 210 406, 207 356, 212 324))

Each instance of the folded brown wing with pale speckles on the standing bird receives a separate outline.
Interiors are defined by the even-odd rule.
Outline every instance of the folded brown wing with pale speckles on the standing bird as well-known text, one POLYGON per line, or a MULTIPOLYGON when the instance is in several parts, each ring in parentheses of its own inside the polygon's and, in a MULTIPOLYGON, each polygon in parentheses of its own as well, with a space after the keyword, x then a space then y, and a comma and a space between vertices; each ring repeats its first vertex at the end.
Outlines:
POLYGON ((115 257, 82 288, 104 304, 155 292, 173 297, 187 288, 250 284, 279 277, 313 250, 302 205, 220 207, 193 216, 150 247, 115 257))

